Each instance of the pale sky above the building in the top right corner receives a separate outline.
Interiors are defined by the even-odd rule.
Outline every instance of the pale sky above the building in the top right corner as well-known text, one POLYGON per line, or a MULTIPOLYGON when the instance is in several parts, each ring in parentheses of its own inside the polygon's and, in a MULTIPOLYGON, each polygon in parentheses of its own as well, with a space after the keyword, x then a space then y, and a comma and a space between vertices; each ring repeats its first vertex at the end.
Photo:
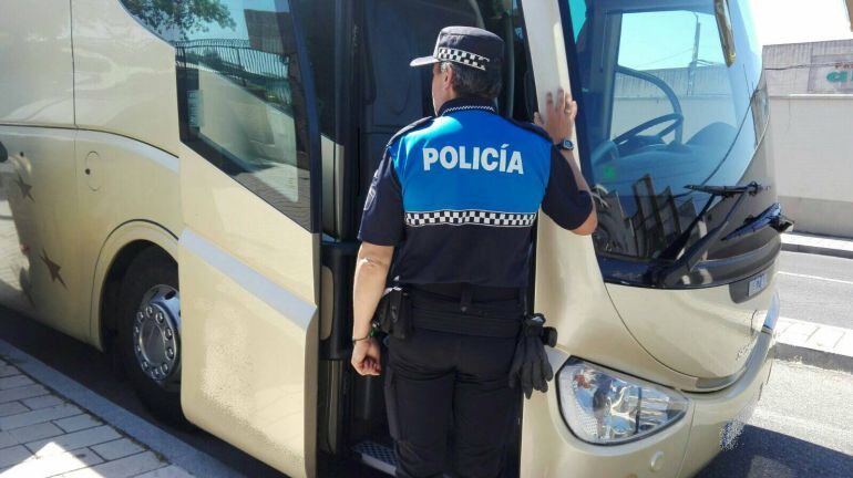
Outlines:
POLYGON ((749 0, 761 44, 853 39, 844 0, 749 0))

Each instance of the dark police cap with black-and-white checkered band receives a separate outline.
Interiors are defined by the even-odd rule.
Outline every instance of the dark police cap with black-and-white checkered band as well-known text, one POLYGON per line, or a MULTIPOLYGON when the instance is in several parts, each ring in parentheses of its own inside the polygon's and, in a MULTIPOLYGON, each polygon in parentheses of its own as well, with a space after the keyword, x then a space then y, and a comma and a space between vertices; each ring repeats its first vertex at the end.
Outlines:
POLYGON ((473 27, 445 27, 439 32, 432 55, 414 59, 409 65, 424 66, 449 61, 486 71, 486 67, 500 67, 503 56, 501 37, 473 27))

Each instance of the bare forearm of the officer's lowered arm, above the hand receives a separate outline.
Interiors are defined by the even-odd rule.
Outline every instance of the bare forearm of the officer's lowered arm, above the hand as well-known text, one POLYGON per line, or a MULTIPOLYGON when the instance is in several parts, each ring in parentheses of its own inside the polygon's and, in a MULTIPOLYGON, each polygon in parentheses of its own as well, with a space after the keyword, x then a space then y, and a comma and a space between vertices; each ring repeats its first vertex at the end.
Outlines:
POLYGON ((363 337, 370 332, 370 321, 379 300, 382 299, 393 254, 393 246, 361 242, 352 287, 352 336, 354 339, 363 337))

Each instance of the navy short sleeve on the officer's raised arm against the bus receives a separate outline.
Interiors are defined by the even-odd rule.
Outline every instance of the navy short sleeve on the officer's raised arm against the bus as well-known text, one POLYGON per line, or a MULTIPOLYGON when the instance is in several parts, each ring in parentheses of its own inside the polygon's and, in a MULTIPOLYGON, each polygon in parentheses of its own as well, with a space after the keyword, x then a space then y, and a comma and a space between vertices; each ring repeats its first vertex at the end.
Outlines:
POLYGON ((593 211, 593 198, 580 190, 566 158, 551 148, 551 175, 542 210, 564 229, 577 229, 593 211))

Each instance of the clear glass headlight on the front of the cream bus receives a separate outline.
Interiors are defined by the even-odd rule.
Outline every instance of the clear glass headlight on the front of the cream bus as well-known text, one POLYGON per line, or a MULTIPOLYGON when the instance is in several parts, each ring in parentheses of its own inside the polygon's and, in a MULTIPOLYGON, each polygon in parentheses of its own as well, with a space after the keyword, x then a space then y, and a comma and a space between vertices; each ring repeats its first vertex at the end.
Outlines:
POLYGON ((557 374, 559 408, 584 441, 612 445, 657 433, 687 412, 674 389, 569 358, 557 374))

